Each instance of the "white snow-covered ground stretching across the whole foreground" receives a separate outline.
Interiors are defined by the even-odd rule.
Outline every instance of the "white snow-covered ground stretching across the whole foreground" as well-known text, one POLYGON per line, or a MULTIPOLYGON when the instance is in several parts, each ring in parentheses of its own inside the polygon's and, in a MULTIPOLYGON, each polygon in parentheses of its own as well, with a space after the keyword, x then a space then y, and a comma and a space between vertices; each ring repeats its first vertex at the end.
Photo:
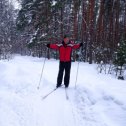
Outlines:
POLYGON ((126 126, 126 81, 98 74, 96 65, 72 63, 69 100, 56 86, 59 61, 15 56, 0 61, 0 126, 126 126))

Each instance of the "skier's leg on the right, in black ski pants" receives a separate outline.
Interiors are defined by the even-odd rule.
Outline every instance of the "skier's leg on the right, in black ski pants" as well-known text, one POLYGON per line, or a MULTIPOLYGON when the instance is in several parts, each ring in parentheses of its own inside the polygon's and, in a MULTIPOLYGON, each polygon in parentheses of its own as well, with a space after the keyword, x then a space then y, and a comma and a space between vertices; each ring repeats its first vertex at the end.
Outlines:
POLYGON ((69 81, 70 81, 70 69, 71 69, 71 62, 66 62, 65 63, 65 77, 64 77, 64 84, 65 87, 69 86, 69 81))

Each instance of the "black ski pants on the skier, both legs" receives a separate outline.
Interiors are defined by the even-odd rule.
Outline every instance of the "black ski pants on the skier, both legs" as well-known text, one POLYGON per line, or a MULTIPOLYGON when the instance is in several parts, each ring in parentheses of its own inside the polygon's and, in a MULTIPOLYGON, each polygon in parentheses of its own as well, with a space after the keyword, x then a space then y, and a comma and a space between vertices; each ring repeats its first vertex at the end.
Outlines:
POLYGON ((71 69, 71 61, 70 62, 62 62, 62 61, 60 61, 60 64, 59 64, 59 73, 58 73, 58 77, 57 77, 57 87, 61 86, 61 84, 62 84, 62 79, 63 79, 63 73, 64 73, 64 71, 65 71, 64 85, 65 85, 65 87, 69 86, 70 69, 71 69))

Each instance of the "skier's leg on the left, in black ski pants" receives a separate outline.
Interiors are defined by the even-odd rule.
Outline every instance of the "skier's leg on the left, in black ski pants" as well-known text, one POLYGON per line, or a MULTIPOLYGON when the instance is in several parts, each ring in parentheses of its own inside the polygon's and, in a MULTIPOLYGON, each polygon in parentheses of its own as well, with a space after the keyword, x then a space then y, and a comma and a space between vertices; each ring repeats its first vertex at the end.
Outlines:
POLYGON ((57 77, 57 87, 60 87, 62 84, 63 72, 64 72, 64 62, 60 62, 59 73, 58 73, 58 77, 57 77))

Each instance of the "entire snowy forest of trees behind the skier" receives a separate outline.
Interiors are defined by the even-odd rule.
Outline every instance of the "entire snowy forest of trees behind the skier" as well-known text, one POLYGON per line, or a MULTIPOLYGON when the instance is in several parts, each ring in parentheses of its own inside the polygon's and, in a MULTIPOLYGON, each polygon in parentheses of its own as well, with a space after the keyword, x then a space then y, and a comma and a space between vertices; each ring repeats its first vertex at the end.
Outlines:
MULTIPOLYGON (((69 34, 83 47, 73 61, 97 63, 100 72, 126 69, 126 0, 0 0, 0 59, 13 53, 58 59, 47 43, 69 34)), ((117 72, 116 72, 117 74, 117 72)))

